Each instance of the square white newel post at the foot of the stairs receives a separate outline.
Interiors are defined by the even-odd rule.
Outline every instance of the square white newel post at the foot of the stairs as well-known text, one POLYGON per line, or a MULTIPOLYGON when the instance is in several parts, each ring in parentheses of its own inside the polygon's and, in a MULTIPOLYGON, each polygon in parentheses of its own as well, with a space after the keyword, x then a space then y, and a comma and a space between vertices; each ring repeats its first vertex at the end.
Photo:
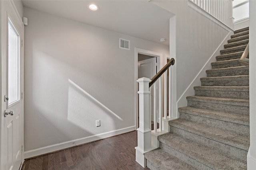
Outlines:
POLYGON ((139 78, 139 128, 138 131, 138 146, 136 149, 136 161, 143 167, 146 167, 146 158, 144 153, 151 150, 151 130, 149 129, 149 78, 139 78))

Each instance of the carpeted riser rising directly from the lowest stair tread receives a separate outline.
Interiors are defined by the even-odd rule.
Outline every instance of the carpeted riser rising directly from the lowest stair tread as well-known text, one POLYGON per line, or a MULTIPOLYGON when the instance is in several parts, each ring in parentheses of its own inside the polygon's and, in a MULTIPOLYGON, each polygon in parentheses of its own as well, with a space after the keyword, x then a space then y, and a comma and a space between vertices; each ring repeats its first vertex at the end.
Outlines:
POLYGON ((172 155, 176 158, 179 158, 184 162, 190 164, 191 166, 196 167, 198 170, 212 170, 212 168, 202 164, 201 162, 198 162, 197 160, 191 158, 190 156, 187 156, 186 154, 183 154, 182 152, 179 152, 178 150, 168 147, 164 143, 160 142, 159 147, 166 150, 166 152, 172 153, 172 155))

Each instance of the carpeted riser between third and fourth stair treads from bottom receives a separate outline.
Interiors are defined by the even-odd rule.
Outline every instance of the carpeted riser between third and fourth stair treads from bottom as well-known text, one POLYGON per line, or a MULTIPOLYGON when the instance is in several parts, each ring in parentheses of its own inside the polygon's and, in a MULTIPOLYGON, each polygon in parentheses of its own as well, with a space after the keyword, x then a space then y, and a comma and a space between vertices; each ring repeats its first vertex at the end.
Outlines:
POLYGON ((181 112, 180 112, 180 119, 186 119, 188 121, 209 125, 211 127, 217 127, 223 130, 233 131, 241 135, 250 135, 249 133, 250 128, 249 126, 245 126, 245 125, 239 125, 236 123, 231 123, 227 121, 221 121, 221 120, 211 119, 208 117, 202 117, 202 116, 192 115, 188 113, 181 113, 181 112))

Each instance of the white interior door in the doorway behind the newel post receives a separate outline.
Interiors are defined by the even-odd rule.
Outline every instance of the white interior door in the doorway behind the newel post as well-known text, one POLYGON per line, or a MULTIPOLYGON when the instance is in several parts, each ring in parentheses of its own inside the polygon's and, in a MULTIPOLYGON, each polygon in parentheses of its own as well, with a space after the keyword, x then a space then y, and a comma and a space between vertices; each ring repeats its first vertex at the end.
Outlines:
MULTIPOLYGON (((146 77, 146 78, 152 79, 154 75, 156 75, 156 57, 138 61, 138 78, 146 77)), ((151 86, 150 112, 151 112, 151 120, 154 120, 154 86, 151 86)))

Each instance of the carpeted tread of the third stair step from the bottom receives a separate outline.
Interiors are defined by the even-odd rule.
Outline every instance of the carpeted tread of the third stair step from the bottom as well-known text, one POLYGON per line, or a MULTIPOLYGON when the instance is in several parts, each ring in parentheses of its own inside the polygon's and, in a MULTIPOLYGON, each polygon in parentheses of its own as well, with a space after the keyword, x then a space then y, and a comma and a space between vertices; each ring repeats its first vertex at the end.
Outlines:
POLYGON ((217 127, 211 127, 201 123, 195 123, 185 119, 175 119, 169 125, 208 139, 248 151, 250 146, 250 136, 226 131, 217 127))

